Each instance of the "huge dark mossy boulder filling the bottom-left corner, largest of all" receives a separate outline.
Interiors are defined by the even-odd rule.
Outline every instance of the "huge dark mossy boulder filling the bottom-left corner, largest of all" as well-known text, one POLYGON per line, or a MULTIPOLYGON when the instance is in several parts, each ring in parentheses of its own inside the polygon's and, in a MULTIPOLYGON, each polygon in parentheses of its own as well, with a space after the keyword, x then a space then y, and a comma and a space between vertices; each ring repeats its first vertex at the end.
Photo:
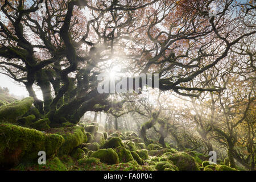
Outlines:
POLYGON ((44 134, 26 127, 0 124, 0 168, 12 167, 19 162, 34 162, 39 151, 46 151, 50 158, 63 144, 63 137, 44 134))

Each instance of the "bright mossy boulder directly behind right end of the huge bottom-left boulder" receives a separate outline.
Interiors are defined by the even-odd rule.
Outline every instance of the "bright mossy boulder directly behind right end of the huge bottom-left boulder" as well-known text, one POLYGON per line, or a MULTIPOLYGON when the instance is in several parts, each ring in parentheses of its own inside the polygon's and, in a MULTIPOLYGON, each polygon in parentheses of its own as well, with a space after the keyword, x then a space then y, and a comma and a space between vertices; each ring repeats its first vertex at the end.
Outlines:
POLYGON ((55 133, 63 136, 64 143, 57 152, 57 155, 68 155, 73 151, 74 148, 87 142, 84 128, 81 126, 61 127, 45 131, 47 133, 55 133))

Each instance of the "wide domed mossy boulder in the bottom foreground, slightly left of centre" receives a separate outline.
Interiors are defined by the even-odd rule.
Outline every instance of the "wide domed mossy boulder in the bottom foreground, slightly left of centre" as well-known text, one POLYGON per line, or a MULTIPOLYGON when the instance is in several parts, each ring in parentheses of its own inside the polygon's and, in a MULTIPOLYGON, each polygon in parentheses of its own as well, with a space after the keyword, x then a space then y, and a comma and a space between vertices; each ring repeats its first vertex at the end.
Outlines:
POLYGON ((102 163, 106 164, 118 164, 119 158, 117 152, 113 150, 113 148, 100 149, 96 152, 93 152, 90 155, 92 158, 98 158, 102 163))

